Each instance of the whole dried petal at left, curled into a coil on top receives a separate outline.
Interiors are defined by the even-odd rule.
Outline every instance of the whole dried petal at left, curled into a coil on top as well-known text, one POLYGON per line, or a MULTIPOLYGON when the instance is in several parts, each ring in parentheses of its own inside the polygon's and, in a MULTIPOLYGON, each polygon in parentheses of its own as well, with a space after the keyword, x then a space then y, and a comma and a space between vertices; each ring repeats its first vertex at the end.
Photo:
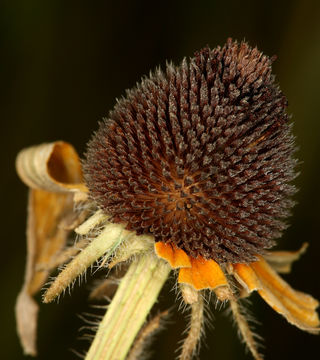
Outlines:
POLYGON ((16 304, 17 331, 24 352, 36 355, 38 305, 32 296, 46 282, 50 264, 65 247, 74 216, 74 192, 86 192, 79 157, 65 142, 22 150, 17 172, 31 189, 27 221, 25 280, 16 304))

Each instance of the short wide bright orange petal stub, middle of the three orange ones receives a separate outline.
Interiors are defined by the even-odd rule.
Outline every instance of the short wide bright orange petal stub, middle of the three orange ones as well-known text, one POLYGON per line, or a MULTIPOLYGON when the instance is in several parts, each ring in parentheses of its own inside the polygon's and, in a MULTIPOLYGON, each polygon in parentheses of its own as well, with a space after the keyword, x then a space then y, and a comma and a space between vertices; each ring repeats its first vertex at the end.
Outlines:
POLYGON ((192 285, 196 290, 215 289, 219 286, 229 286, 226 276, 220 266, 213 260, 202 257, 191 258, 191 268, 182 268, 179 272, 179 283, 192 285))

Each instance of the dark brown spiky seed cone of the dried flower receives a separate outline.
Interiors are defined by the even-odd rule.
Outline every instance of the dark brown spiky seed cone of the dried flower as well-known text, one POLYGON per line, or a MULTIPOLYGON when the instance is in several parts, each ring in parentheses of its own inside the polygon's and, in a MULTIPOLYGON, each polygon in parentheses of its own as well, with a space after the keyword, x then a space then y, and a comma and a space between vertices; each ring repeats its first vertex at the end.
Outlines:
POLYGON ((92 198, 114 222, 194 258, 253 261, 286 228, 295 192, 271 63, 230 39, 144 78, 89 142, 92 198))

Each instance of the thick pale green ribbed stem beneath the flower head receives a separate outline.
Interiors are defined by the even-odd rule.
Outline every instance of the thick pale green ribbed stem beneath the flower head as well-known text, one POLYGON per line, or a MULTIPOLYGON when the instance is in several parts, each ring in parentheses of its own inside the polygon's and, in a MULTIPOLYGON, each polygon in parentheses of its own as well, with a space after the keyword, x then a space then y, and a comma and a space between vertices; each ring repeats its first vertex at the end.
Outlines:
POLYGON ((125 359, 169 272, 170 266, 150 253, 131 263, 99 325, 86 360, 125 359))

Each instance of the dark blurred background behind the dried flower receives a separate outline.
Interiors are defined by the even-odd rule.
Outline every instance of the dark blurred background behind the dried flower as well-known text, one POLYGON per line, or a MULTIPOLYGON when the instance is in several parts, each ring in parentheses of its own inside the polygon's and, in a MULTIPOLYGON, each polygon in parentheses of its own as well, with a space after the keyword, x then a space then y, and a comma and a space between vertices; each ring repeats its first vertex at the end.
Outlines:
MULTIPOLYGON (((1 297, 0 357, 24 359, 15 332, 14 304, 25 266, 27 189, 15 173, 17 152, 27 146, 65 140, 80 154, 97 122, 115 99, 141 76, 165 61, 227 37, 247 40, 268 55, 289 100, 300 147, 300 192, 291 227, 279 248, 295 250, 310 242, 306 255, 286 279, 320 299, 319 1, 9 1, 0 4, 1 126, 1 297)), ((172 283, 159 308, 171 306, 172 283)), ((93 312, 86 285, 75 287, 59 304, 41 305, 38 359, 77 359, 78 315, 93 312)), ((38 297, 40 300, 40 297, 38 297)), ((257 295, 250 309, 260 322, 266 359, 314 358, 319 337, 289 325, 257 295)), ((222 309, 215 310, 201 359, 250 359, 222 309)), ((174 359, 184 316, 177 309, 154 342, 152 359, 174 359)))

